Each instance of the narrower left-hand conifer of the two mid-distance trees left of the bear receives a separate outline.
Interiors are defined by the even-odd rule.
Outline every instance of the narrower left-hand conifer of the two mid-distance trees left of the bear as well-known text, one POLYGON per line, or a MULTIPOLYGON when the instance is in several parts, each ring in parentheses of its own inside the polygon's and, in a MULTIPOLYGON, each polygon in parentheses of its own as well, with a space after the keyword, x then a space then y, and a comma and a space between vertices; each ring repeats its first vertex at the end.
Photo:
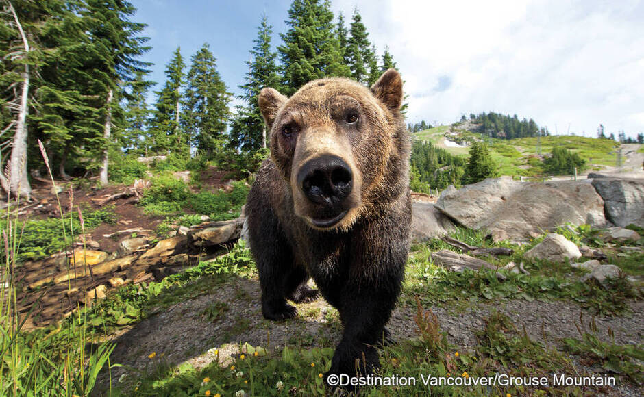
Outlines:
POLYGON ((166 83, 160 91, 155 92, 157 102, 151 120, 151 149, 155 153, 169 153, 173 149, 174 152, 185 154, 188 150, 188 139, 179 129, 179 102, 185 66, 181 48, 178 47, 166 66, 166 83))

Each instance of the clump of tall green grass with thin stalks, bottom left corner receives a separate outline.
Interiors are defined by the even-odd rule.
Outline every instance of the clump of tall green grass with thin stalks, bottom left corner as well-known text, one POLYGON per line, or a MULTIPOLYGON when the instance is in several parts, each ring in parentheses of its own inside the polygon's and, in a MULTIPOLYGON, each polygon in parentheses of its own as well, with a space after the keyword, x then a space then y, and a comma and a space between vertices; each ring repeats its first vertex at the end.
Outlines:
MULTIPOLYGON (((62 238, 65 241, 64 251, 66 257, 66 271, 69 274, 73 266, 76 272, 75 255, 73 249, 73 190, 69 191, 69 233, 71 247, 67 245, 68 229, 60 204, 58 189, 53 179, 53 174, 47 159, 47 153, 42 142, 38 141, 45 166, 55 192, 60 213, 60 222, 63 229, 62 238), (70 259, 73 261, 70 264, 70 259)), ((76 310, 69 318, 61 320, 57 327, 25 331, 23 328, 27 319, 32 315, 34 307, 40 298, 32 305, 28 313, 20 313, 18 292, 21 285, 16 280, 18 268, 18 253, 23 230, 18 230, 18 214, 21 199, 16 195, 13 203, 8 192, 8 207, 6 209, 6 227, 0 233, 0 247, 3 249, 4 259, 0 274, 0 395, 12 396, 87 396, 94 389, 97 376, 103 366, 108 363, 115 345, 103 342, 95 346, 92 342, 96 339, 95 331, 86 322, 86 309, 77 304, 76 310)), ((82 212, 77 208, 81 220, 82 240, 85 239, 85 229, 82 212)), ((23 228, 25 222, 22 222, 23 228)), ((85 245, 83 244, 85 252, 85 245)), ((86 264, 86 260, 84 260, 86 264)), ((93 278, 93 274, 90 274, 93 278)), ((71 292, 71 277, 68 277, 67 287, 71 292)), ((93 285, 94 283, 92 283, 93 285)), ((81 294, 86 293, 86 285, 82 286, 81 294)), ((87 299, 86 299, 87 300, 87 299)), ((88 302, 86 302, 88 303, 88 302)), ((111 374, 110 374, 111 375, 111 374)), ((110 376, 111 379, 111 376, 110 376)), ((111 382, 110 382, 111 386, 111 382)), ((111 389, 110 389, 111 392, 111 389)))

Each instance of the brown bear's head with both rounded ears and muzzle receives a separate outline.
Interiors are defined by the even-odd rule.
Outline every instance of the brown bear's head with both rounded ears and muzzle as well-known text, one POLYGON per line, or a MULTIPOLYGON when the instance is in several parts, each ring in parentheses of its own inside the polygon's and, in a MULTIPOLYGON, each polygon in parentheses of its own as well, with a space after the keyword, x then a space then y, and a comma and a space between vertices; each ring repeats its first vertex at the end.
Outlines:
POLYGON ((315 229, 347 230, 408 186, 402 98, 393 69, 371 89, 338 77, 311 81, 290 98, 262 89, 271 157, 297 216, 315 229))

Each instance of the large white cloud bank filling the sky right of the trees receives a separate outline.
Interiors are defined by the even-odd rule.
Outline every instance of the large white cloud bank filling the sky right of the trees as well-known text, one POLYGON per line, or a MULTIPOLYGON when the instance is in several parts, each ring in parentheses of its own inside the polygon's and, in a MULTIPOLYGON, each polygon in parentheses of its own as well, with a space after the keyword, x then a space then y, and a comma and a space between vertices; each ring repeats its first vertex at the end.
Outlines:
POLYGON ((410 121, 495 111, 552 133, 644 131, 644 2, 336 0, 334 11, 350 20, 356 5, 404 74, 410 121))

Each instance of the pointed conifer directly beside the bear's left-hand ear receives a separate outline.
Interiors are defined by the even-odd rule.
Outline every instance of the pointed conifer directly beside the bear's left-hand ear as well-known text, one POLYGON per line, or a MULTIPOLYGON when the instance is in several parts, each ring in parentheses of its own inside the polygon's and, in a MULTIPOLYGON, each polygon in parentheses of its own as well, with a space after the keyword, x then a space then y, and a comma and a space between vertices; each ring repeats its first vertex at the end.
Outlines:
POLYGON ((253 41, 252 60, 246 62, 246 84, 239 86, 243 94, 238 96, 246 104, 237 106, 237 114, 230 128, 229 147, 253 152, 267 147, 270 137, 267 136, 257 98, 264 87, 280 88, 280 76, 277 74, 275 58, 271 51, 273 27, 269 25, 266 15, 258 27, 257 38, 253 41))

